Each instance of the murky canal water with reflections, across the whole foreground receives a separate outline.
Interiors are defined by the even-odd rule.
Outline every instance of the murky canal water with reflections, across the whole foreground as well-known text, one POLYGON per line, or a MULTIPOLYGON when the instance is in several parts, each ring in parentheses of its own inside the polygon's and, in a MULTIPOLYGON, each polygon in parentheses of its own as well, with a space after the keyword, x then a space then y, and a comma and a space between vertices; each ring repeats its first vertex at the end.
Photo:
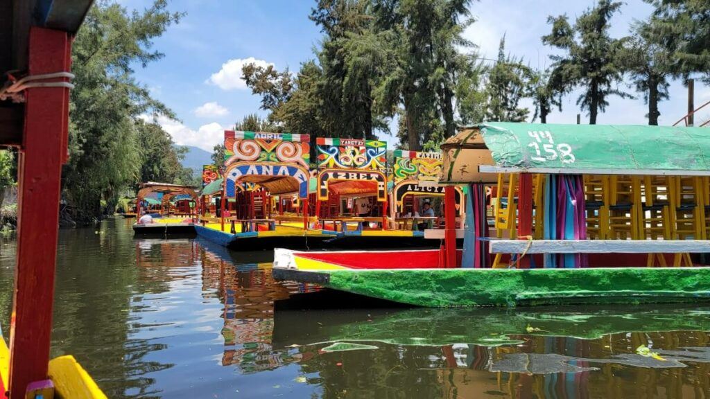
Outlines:
MULTIPOLYGON (((392 307, 130 224, 60 233, 53 356, 109 398, 710 398, 705 305, 392 307)), ((5 337, 15 249, 2 239, 5 337)))

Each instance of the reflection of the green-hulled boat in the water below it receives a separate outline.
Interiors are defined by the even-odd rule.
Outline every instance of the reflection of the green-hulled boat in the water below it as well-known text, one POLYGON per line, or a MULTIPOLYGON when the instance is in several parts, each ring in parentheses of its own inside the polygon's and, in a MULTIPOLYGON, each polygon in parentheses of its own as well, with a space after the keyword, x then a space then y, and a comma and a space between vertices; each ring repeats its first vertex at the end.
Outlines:
POLYGON ((274 342, 307 343, 300 346, 304 353, 319 353, 334 341, 378 347, 321 354, 303 363, 304 373, 319 371, 312 382, 325 388, 327 398, 348 392, 403 398, 706 398, 710 349, 701 331, 710 329, 708 311, 666 306, 310 312, 317 315, 312 322, 320 323, 315 326, 294 323, 298 312, 277 312, 274 342), (636 354, 642 344, 665 361, 636 354))

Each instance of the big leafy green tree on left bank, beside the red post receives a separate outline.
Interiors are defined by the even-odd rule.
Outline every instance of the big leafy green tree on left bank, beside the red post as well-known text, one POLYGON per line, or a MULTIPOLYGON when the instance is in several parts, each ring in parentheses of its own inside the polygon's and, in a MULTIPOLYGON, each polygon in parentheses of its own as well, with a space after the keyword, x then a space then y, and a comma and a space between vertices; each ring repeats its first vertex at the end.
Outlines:
POLYGON ((147 112, 173 114, 136 82, 132 69, 163 56, 152 49, 152 40, 181 16, 166 6, 165 0, 155 0, 142 13, 129 13, 119 4, 99 1, 77 33, 70 160, 63 171, 64 195, 77 209, 75 216, 98 217, 102 200, 112 208, 119 192, 133 187, 143 173, 168 180, 177 173, 180 153, 171 153, 172 141, 157 125, 139 118, 147 112), (158 154, 168 159, 158 160, 158 154))

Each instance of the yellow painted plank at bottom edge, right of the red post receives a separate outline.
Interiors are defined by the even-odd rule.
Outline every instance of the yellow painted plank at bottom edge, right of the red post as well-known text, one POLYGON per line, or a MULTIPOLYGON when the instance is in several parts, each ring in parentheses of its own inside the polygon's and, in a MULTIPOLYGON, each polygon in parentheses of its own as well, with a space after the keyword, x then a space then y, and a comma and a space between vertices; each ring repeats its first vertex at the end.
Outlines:
POLYGON ((60 356, 50 360, 49 378, 59 398, 107 399, 74 356, 60 356))

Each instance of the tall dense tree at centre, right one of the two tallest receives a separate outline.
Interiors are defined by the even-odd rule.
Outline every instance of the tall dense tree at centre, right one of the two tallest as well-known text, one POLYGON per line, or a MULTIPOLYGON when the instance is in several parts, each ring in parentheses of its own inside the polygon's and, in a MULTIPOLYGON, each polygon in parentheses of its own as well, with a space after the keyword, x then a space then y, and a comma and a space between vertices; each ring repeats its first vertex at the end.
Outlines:
POLYGON ((406 137, 410 150, 422 142, 455 131, 454 94, 459 75, 470 72, 469 62, 458 48, 470 48, 462 33, 470 0, 376 0, 375 26, 388 31, 386 41, 393 58, 392 67, 376 89, 376 102, 393 113, 403 106, 404 124, 400 138, 406 137))

